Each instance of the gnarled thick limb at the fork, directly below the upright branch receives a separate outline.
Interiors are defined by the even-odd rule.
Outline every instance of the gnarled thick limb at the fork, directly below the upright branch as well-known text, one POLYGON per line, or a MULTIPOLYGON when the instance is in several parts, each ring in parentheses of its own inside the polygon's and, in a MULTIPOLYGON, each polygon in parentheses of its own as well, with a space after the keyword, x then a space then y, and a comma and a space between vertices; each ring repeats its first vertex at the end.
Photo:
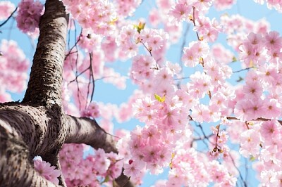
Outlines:
POLYGON ((19 103, 0 104, 0 126, 23 140, 31 157, 54 153, 63 144, 62 114, 57 105, 46 110, 19 103))

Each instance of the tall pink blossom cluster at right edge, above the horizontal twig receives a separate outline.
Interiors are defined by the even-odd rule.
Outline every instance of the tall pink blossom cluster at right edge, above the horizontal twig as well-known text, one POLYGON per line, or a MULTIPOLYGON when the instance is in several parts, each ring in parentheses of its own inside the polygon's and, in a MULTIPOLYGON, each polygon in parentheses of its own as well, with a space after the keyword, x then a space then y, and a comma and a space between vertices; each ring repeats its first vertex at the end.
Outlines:
POLYGON ((257 67, 257 70, 247 73, 246 84, 236 96, 238 102, 234 113, 240 120, 275 119, 281 115, 282 74, 278 60, 281 40, 277 32, 264 36, 250 33, 240 46, 241 61, 247 67, 257 67))

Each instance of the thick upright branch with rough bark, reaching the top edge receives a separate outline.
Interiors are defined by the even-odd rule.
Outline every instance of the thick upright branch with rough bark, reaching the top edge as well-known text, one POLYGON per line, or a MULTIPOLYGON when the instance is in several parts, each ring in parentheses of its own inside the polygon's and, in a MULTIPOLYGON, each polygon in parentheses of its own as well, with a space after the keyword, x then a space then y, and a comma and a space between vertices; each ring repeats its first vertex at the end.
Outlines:
POLYGON ((33 59, 24 103, 61 105, 63 60, 65 58, 68 15, 63 3, 47 0, 40 18, 37 49, 33 59))

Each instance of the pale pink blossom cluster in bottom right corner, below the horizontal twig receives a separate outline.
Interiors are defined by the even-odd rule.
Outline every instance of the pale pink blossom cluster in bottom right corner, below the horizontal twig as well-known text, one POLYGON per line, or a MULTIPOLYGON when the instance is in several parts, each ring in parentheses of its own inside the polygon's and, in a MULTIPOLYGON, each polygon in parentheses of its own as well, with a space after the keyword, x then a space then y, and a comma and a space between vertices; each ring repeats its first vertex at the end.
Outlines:
POLYGON ((240 135, 240 154, 257 160, 253 165, 263 186, 279 186, 282 179, 281 122, 254 122, 240 135))

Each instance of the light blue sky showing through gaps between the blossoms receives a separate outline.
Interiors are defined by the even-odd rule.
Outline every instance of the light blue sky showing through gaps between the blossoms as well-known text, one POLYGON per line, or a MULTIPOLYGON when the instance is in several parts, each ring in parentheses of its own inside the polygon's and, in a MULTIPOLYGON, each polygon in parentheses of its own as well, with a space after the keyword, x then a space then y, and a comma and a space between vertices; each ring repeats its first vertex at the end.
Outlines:
MULTIPOLYGON (((18 3, 17 0, 14 0, 12 2, 15 4, 18 3)), ((154 1, 144 0, 141 7, 138 8, 135 12, 135 18, 147 18, 147 13, 152 7, 154 7, 154 1)), ((259 20, 261 18, 266 18, 266 20, 271 23, 271 30, 281 32, 282 15, 280 13, 277 13, 275 10, 269 10, 268 8, 266 8, 265 4, 261 6, 259 4, 255 4, 255 2, 252 0, 238 0, 238 3, 233 6, 233 8, 231 8, 230 10, 217 12, 214 10, 214 8, 211 8, 211 10, 209 11, 209 17, 219 18, 220 15, 226 12, 228 12, 229 15, 240 13, 240 15, 243 15, 244 17, 249 18, 251 20, 259 20)), ((32 62, 32 56, 35 51, 35 44, 32 44, 33 41, 31 41, 25 34, 22 34, 16 29, 16 21, 9 20, 9 22, 4 25, 4 27, 1 27, 0 30, 2 31, 2 33, 0 33, 0 39, 13 39, 18 41, 20 48, 23 49, 25 55, 30 58, 30 62, 32 62)), ((185 39, 187 39, 187 41, 195 39, 195 32, 192 31, 192 25, 190 27, 189 34, 185 39)), ((182 41, 180 40, 180 43, 181 42, 182 41)), ((224 35, 221 35, 217 42, 223 44, 224 46, 226 46, 226 48, 231 49, 230 46, 226 45, 226 39, 224 35)), ((178 62, 179 55, 180 44, 175 44, 171 46, 171 50, 169 50, 166 54, 166 58, 168 60, 171 60, 172 62, 178 62)), ((126 70, 130 67, 130 61, 118 62, 116 63, 116 65, 114 65, 114 67, 126 70)), ((233 63, 232 67, 233 70, 240 70, 240 63, 233 63)), ((231 82, 235 82, 239 75, 243 76, 244 72, 233 76, 231 82)), ((111 86, 111 84, 104 84, 102 81, 96 82, 94 101, 120 104, 128 100, 128 97, 133 93, 134 89, 136 89, 136 87, 132 86, 130 80, 128 80, 128 87, 125 90, 118 90, 116 89, 116 87, 111 86)), ((12 93, 12 97, 15 101, 18 101, 23 98, 23 94, 24 93, 12 93)), ((136 124, 139 124, 139 122, 137 122, 136 120, 131 120, 130 122, 126 122, 123 124, 118 124, 118 122, 115 121, 114 123, 115 129, 133 129, 136 124)), ((208 132, 209 129, 206 129, 206 131, 208 132)), ((142 186, 151 186, 157 179, 166 179, 166 174, 167 171, 159 176, 147 175, 145 176, 145 182, 142 184, 142 186)), ((250 178, 248 180, 248 183, 250 184, 250 186, 257 186, 257 180, 255 179, 254 173, 250 172, 249 176, 250 178)))

